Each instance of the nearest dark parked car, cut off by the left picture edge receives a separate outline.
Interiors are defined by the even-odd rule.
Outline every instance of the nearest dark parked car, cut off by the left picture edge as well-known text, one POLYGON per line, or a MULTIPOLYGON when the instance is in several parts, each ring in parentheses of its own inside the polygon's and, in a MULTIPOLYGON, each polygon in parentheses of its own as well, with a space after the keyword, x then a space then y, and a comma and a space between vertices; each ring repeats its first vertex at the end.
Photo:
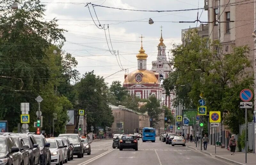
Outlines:
POLYGON ((0 162, 8 165, 22 164, 20 149, 16 147, 10 134, 0 135, 0 162))

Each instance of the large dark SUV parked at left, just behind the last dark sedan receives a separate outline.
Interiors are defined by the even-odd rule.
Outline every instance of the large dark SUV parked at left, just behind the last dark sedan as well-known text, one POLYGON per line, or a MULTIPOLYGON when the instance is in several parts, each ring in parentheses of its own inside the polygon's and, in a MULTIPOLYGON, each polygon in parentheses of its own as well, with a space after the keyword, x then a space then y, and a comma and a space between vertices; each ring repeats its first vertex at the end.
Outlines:
POLYGON ((58 137, 66 137, 74 145, 73 154, 77 155, 78 158, 84 157, 84 145, 78 134, 75 133, 66 133, 60 134, 58 137))

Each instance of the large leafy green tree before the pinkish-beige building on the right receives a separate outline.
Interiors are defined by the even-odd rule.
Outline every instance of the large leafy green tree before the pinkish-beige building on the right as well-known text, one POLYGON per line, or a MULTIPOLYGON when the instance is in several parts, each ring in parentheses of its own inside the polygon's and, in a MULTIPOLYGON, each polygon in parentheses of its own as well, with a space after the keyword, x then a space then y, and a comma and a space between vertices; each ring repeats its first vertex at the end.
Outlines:
POLYGON ((175 91, 175 105, 196 108, 202 93, 207 109, 224 112, 224 124, 238 133, 239 124, 244 123, 244 114, 238 108, 239 93, 253 85, 251 61, 246 57, 249 48, 233 47, 230 54, 225 54, 219 41, 207 42, 198 35, 187 46, 174 47, 175 71, 164 80, 164 88, 175 91))

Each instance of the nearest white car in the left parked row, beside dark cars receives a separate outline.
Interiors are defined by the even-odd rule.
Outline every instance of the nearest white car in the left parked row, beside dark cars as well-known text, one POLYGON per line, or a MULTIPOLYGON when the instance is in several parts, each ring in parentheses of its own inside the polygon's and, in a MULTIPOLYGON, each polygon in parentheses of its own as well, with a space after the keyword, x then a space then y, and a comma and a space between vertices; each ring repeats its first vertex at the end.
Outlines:
POLYGON ((50 143, 50 151, 51 151, 51 164, 60 165, 63 162, 63 154, 62 148, 56 139, 46 139, 47 143, 50 143))

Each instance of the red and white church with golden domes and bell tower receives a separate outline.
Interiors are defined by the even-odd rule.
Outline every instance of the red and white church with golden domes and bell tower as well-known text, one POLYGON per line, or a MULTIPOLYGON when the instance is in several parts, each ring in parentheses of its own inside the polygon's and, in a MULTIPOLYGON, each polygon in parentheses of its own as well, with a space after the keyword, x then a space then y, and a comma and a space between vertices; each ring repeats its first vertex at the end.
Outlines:
MULTIPOLYGON (((136 55, 138 62, 138 69, 131 73, 124 75, 123 86, 130 92, 131 95, 140 97, 141 99, 148 99, 150 96, 155 97, 161 101, 162 105, 171 107, 171 97, 165 95, 162 83, 164 78, 168 77, 168 74, 172 71, 170 67, 170 61, 167 61, 162 30, 160 43, 158 44, 158 54, 156 61, 152 61, 152 69, 147 69, 147 57, 145 50, 142 46, 141 35, 141 47, 139 54, 136 55)), ((173 112, 173 110, 172 110, 173 112)))

